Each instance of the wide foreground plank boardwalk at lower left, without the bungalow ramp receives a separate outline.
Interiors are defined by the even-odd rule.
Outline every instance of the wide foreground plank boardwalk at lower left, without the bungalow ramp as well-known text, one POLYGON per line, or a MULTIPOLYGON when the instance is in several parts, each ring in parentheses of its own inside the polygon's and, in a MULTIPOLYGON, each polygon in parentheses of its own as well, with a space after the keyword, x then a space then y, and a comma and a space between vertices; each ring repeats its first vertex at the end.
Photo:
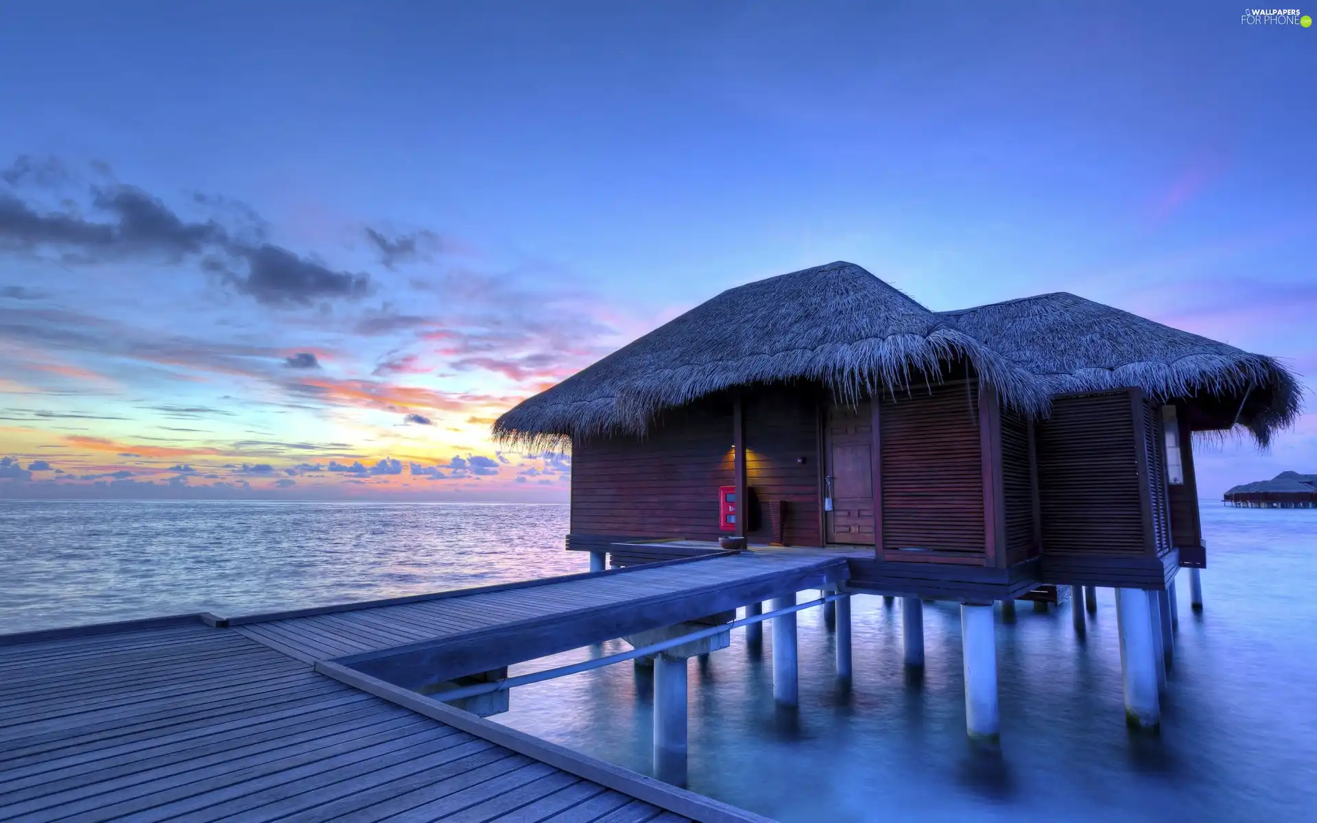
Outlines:
MULTIPOLYGON (((320 628, 358 641, 398 636, 382 632, 378 615, 363 622, 371 631, 345 622, 320 628)), ((525 822, 595 809, 586 803, 599 798, 599 814, 628 803, 660 811, 317 674, 252 636, 291 643, 307 629, 252 625, 250 633, 198 624, 7 647, 16 672, 32 670, 13 653, 25 647, 57 674, 25 678, 0 714, 0 819, 525 822)))

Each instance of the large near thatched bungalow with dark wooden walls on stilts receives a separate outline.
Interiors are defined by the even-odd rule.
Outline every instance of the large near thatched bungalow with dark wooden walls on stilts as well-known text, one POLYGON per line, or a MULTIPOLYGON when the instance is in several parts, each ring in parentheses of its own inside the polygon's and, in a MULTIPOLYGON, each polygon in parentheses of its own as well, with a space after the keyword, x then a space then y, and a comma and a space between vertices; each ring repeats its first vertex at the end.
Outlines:
MULTIPOLYGON (((494 432, 570 448, 568 549, 594 569, 782 545, 846 552, 843 590, 901 595, 907 627, 921 599, 960 602, 973 715, 969 660, 992 661, 993 602, 1042 585, 1115 589, 1122 627, 1143 627, 1122 628, 1122 648, 1160 661, 1180 566, 1201 603, 1192 435, 1266 445, 1299 410, 1271 357, 1101 303, 1055 292, 935 312, 834 262, 730 288, 494 432), (1150 622, 1163 631, 1147 636, 1150 622)), ((1126 703, 1155 724, 1142 666, 1126 666, 1126 703)))

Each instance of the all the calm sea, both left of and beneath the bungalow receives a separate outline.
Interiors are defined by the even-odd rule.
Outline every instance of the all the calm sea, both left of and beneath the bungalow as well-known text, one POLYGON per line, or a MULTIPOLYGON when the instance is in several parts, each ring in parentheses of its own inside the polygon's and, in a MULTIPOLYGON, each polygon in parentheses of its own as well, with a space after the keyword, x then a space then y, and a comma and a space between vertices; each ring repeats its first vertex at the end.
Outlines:
MULTIPOLYGON (((1000 625, 1000 752, 965 740, 956 607, 926 604, 911 678, 900 608, 859 597, 849 693, 817 610, 799 619, 798 712, 773 707, 770 629, 763 658, 738 631, 691 661, 691 789, 792 822, 1317 819, 1317 511, 1202 514, 1205 610, 1183 581, 1159 737, 1125 728, 1109 590, 1083 640, 1068 604, 1000 625)), ((0 632, 579 571, 566 524, 565 506, 0 502, 0 632)), ((647 772, 651 706, 627 662, 516 689, 495 719, 647 772)))

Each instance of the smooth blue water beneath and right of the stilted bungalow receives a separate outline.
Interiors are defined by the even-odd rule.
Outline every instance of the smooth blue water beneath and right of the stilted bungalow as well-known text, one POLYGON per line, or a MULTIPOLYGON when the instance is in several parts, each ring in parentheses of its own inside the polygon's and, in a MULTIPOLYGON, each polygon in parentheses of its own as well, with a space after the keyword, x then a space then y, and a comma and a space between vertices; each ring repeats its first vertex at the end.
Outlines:
MULTIPOLYGON (((1204 520, 1206 610, 1187 594, 1177 604, 1160 735, 1125 726, 1110 590, 1081 635, 1069 603, 1021 603, 1013 624, 998 615, 1000 747, 964 733, 957 607, 925 604, 926 665, 910 670, 901 610, 860 597, 848 689, 832 676, 820 610, 799 614, 798 711, 773 704, 770 623, 761 652, 738 629, 731 648, 690 666, 690 787, 789 822, 1310 819, 1317 518, 1209 507, 1204 520)), ((648 773, 645 678, 624 664, 518 689, 494 719, 648 773)))

